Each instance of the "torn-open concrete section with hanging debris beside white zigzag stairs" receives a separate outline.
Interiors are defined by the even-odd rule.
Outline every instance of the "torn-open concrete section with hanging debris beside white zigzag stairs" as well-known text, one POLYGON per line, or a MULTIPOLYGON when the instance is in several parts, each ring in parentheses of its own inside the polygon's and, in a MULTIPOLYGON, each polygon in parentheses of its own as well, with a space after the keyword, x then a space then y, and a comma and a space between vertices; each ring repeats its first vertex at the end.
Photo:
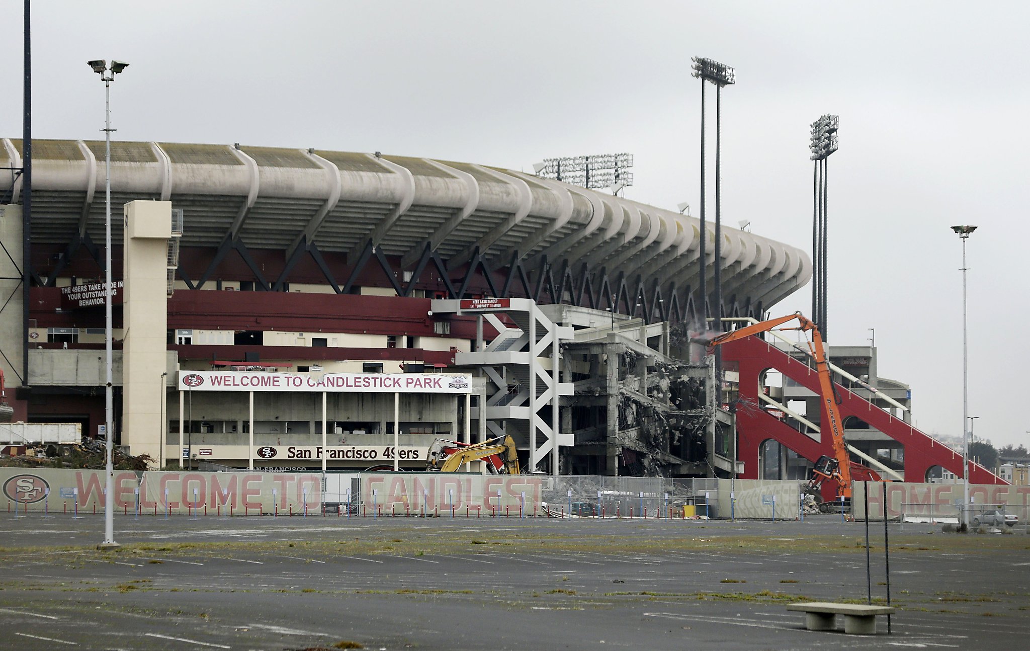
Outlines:
POLYGON ((682 326, 645 326, 640 319, 577 331, 562 350, 575 383, 573 474, 716 475, 705 390, 710 367, 677 358, 697 352, 689 350, 690 334, 682 326))

